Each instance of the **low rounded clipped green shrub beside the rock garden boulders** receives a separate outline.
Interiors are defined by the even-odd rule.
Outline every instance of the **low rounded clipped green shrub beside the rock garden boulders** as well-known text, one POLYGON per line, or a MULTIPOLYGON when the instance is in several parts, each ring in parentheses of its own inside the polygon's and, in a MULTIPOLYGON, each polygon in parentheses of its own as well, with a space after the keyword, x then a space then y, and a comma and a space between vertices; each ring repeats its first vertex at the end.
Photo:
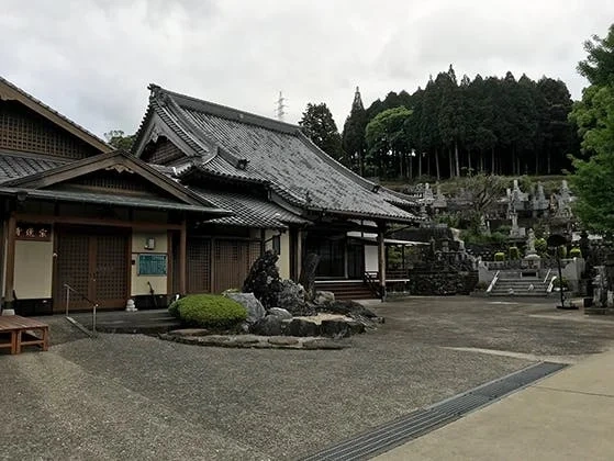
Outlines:
POLYGON ((227 328, 247 318, 239 303, 216 294, 192 294, 172 303, 169 312, 171 308, 177 310, 185 325, 194 327, 227 328))

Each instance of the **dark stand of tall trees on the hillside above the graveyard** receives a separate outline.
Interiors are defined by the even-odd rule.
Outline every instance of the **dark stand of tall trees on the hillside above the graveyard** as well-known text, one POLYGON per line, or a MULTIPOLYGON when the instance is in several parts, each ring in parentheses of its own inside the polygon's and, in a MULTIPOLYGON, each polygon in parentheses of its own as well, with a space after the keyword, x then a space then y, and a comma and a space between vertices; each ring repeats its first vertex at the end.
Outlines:
POLYGON ((483 171, 560 175, 579 150, 561 80, 464 76, 453 66, 412 94, 390 92, 365 108, 357 88, 343 133, 325 103, 299 124, 324 151, 366 177, 436 179, 483 171))

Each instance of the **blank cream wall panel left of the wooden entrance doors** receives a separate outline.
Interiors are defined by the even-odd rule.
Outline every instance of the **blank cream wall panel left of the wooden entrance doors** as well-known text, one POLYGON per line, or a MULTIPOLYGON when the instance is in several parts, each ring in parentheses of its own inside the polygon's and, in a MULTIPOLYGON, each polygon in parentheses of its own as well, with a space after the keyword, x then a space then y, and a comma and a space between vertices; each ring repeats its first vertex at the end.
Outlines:
POLYGON ((18 300, 52 297, 53 241, 15 240, 14 290, 18 300))

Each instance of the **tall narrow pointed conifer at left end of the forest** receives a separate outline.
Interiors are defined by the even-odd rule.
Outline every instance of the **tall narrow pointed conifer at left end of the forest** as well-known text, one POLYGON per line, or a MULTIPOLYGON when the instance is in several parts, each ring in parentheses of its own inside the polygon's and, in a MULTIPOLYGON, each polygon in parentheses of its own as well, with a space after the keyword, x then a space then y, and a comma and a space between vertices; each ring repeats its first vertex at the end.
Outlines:
POLYGON ((365 166, 365 128, 367 127, 367 113, 360 98, 360 90, 356 87, 354 102, 349 116, 344 124, 342 147, 346 155, 346 165, 364 175, 365 166))

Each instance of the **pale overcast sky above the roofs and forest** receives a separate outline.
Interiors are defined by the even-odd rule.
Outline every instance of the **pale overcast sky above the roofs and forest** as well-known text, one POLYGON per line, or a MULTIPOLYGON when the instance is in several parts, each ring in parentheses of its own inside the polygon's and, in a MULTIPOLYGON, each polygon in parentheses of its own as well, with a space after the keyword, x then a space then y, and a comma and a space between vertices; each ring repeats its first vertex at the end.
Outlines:
POLYGON ((0 0, 0 75, 98 135, 134 132, 147 85, 286 120, 325 102, 339 131, 453 64, 458 78, 563 80, 579 99, 582 43, 612 0, 0 0))

